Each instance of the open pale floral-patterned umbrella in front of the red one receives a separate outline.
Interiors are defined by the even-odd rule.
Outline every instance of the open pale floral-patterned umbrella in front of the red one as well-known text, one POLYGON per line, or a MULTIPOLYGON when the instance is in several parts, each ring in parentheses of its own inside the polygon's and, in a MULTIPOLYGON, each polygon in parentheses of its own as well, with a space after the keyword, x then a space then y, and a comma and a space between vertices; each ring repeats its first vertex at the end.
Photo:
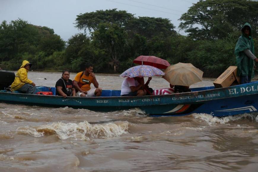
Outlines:
POLYGON ((165 73, 153 66, 139 65, 127 69, 120 75, 120 77, 152 77, 157 75, 165 75, 165 73))

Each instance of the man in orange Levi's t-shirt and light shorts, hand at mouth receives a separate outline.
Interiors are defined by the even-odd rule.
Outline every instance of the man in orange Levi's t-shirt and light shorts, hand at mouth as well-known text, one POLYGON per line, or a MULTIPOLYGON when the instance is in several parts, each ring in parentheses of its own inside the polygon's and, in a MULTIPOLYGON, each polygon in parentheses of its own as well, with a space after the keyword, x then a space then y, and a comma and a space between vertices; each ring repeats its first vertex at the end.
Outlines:
POLYGON ((76 93, 80 97, 93 97, 101 96, 102 89, 98 87, 98 81, 93 73, 93 66, 90 63, 85 65, 85 71, 79 72, 74 77, 74 87, 78 90, 76 93), (95 88, 90 88, 93 83, 95 88))

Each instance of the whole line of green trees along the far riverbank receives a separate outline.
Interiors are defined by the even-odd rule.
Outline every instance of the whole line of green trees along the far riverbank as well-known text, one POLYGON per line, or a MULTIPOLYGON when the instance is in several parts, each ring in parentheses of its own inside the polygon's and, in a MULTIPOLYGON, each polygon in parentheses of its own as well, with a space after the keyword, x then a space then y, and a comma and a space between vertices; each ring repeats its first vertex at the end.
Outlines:
POLYGON ((81 71, 92 63, 95 73, 121 73, 134 66, 139 55, 192 63, 204 76, 217 77, 235 65, 234 49, 241 27, 251 24, 258 51, 258 2, 250 0, 200 0, 180 17, 175 31, 169 19, 135 17, 109 9, 77 15, 76 26, 85 33, 65 42, 54 30, 17 19, 0 25, 0 60, 5 70, 17 70, 23 60, 34 70, 81 71))

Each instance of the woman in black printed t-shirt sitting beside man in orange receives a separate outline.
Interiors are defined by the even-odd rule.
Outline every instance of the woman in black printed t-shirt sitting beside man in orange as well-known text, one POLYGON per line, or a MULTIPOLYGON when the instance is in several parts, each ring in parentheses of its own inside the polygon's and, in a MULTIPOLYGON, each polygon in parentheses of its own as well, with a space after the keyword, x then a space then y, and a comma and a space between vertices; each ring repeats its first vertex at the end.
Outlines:
POLYGON ((56 95, 63 96, 63 98, 66 98, 66 96, 73 96, 75 97, 75 89, 73 82, 70 78, 70 72, 68 70, 64 70, 62 73, 62 77, 58 79, 58 81, 55 84, 56 87, 56 95))

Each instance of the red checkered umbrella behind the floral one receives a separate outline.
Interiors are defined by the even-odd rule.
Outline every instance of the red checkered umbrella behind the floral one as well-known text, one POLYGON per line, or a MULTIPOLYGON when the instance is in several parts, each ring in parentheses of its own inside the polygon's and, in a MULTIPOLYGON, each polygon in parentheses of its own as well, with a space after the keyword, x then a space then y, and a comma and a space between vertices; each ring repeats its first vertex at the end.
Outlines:
POLYGON ((133 60, 133 63, 154 66, 159 69, 166 69, 168 66, 170 66, 167 60, 148 55, 140 55, 133 60))

